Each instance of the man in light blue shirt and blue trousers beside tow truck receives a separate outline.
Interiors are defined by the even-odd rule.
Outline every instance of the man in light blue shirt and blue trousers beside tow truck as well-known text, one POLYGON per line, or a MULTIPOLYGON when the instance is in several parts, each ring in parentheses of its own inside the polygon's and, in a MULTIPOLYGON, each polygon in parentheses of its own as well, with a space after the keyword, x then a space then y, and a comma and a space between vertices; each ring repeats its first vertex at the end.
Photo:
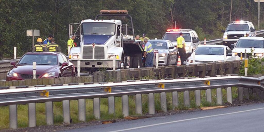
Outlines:
POLYGON ((147 38, 144 39, 144 43, 146 44, 144 48, 144 55, 143 55, 143 57, 146 58, 145 66, 153 67, 153 56, 154 56, 153 50, 154 49, 152 49, 152 44, 148 42, 147 38))

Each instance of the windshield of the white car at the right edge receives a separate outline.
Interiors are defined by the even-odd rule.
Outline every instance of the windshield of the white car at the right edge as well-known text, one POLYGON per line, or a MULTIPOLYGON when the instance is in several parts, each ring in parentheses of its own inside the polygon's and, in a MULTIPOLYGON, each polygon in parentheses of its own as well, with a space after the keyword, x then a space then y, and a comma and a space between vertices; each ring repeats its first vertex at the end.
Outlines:
POLYGON ((263 45, 263 40, 246 40, 246 39, 241 39, 238 40, 237 44, 235 47, 243 47, 243 48, 264 48, 263 45))

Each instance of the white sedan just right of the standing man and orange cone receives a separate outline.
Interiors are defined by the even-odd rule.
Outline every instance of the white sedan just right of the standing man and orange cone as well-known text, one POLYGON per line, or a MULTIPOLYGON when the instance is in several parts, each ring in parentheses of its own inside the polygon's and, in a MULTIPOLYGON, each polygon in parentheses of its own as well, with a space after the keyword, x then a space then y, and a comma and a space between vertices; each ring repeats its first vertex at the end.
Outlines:
POLYGON ((223 62, 224 61, 224 49, 227 50, 226 60, 235 60, 235 54, 232 54, 232 50, 228 46, 224 45, 200 45, 193 54, 186 60, 186 64, 199 64, 209 62, 223 62), (193 61, 195 58, 195 62, 193 61))

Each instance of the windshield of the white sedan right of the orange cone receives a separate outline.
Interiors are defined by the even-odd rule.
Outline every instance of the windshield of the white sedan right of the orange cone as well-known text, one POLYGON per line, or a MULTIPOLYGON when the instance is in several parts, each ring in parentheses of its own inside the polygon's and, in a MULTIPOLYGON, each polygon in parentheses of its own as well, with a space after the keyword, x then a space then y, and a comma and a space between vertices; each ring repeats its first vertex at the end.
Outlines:
POLYGON ((196 55, 224 55, 224 48, 220 47, 197 47, 196 55))

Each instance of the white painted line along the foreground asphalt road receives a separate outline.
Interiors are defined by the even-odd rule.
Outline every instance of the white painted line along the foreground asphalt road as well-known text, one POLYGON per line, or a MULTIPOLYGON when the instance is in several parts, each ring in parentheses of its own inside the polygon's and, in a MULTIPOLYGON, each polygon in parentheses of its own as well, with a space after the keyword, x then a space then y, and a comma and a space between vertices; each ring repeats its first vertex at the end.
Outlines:
POLYGON ((244 111, 237 111, 237 112, 225 113, 225 114, 218 114, 218 115, 211 115, 211 116, 196 117, 196 118, 190 118, 190 119, 184 119, 184 120, 177 120, 177 121, 169 121, 169 122, 157 123, 157 124, 146 125, 146 126, 139 126, 139 127, 122 129, 122 130, 116 130, 116 131, 108 131, 108 132, 128 131, 128 130, 134 130, 134 129, 140 129, 140 128, 147 128, 147 127, 150 127, 150 126, 164 125, 164 124, 169 124, 169 123, 175 123, 175 122, 181 122, 181 121, 189 121, 189 120, 196 120, 196 119, 202 119, 202 118, 208 118, 208 117, 214 117, 214 116, 230 115, 230 114, 236 114, 236 113, 242 113, 242 112, 248 112, 248 111, 254 111, 254 110, 261 110, 261 109, 264 109, 264 107, 263 108, 258 108, 258 109, 251 109, 251 110, 244 110, 244 111))

